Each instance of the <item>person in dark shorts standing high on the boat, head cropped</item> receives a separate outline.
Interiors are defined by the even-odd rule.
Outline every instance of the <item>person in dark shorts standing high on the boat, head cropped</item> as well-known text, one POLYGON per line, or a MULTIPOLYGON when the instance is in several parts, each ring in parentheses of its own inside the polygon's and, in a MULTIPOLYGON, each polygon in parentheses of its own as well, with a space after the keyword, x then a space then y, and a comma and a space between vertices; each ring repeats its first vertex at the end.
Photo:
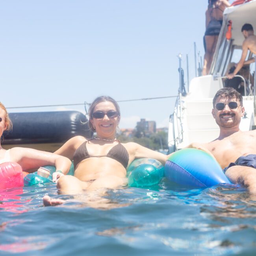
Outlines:
POLYGON ((206 44, 206 51, 204 55, 204 67, 202 74, 205 76, 209 74, 213 54, 217 45, 219 32, 223 21, 223 11, 230 6, 228 0, 208 0, 208 9, 206 10, 206 32, 204 40, 206 44))

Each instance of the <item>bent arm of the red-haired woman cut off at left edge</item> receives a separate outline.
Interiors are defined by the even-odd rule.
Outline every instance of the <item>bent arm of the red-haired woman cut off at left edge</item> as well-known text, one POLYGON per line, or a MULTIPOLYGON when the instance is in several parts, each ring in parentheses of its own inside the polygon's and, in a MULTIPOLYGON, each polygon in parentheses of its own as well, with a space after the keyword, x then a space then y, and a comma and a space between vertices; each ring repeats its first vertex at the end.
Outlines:
POLYGON ((10 157, 12 161, 19 163, 23 171, 45 165, 54 165, 56 170, 67 174, 71 165, 71 161, 64 156, 32 148, 12 148, 10 150, 10 157))

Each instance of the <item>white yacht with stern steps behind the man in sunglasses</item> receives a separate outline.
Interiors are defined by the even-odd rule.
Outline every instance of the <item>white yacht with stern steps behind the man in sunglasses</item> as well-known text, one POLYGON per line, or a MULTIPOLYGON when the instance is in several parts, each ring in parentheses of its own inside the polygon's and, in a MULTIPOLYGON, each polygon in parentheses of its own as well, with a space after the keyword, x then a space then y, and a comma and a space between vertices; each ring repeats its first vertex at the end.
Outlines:
MULTIPOLYGON (((219 89, 226 86, 225 76, 230 63, 237 63, 241 58, 244 40, 241 27, 245 23, 250 23, 256 31, 256 0, 234 1, 231 7, 224 10, 223 16, 223 25, 211 63, 210 74, 193 78, 186 95, 180 83, 179 96, 169 121, 169 152, 184 148, 192 142, 206 143, 219 136, 219 126, 211 115, 212 99, 219 89), (227 39, 230 24, 232 36, 231 39, 227 39)), ((249 52, 248 58, 251 56, 249 52)), ((254 66, 254 64, 250 65, 251 73, 255 73, 254 66)), ((253 85, 250 84, 249 77, 236 77, 241 80, 239 86, 243 88, 243 105, 246 112, 241 120, 240 129, 252 130, 256 113, 255 88, 253 89, 253 85)))

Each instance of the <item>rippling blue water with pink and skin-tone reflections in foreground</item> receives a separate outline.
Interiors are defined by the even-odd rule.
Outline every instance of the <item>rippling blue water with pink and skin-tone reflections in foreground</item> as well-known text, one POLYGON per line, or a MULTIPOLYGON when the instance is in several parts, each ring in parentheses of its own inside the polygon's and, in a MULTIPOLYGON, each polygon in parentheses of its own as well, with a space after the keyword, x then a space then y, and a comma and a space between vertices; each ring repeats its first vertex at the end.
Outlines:
POLYGON ((55 184, 0 194, 0 255, 256 255, 256 198, 237 186, 163 179, 75 197, 55 184), (44 207, 45 194, 68 200, 44 207))

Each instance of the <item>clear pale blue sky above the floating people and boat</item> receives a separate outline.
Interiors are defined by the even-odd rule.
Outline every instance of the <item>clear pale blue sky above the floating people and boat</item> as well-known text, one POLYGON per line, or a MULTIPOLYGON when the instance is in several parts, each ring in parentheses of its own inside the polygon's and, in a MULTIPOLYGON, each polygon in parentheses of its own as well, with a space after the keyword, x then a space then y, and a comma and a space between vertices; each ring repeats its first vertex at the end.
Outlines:
MULTIPOLYGON (((233 2, 233 1, 231 1, 233 2)), ((6 107, 174 96, 177 55, 187 82, 203 58, 207 0, 9 0, 0 9, 0 101, 6 107)), ((168 126, 174 98, 119 103, 121 128, 168 126)), ((83 106, 8 109, 51 111, 83 106)))

